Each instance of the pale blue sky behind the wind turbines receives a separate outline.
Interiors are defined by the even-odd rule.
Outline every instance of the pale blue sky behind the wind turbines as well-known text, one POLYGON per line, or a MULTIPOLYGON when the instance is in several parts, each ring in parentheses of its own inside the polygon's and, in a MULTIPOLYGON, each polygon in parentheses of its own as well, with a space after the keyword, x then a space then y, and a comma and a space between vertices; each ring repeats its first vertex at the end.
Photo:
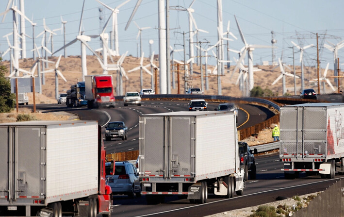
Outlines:
MULTIPOLYGON (((110 7, 116 7, 125 0, 102 0, 110 7)), ((124 30, 131 12, 137 0, 131 0, 121 8, 118 14, 118 37, 119 52, 123 54, 127 50, 128 55, 137 56, 139 39, 136 39, 138 29, 131 22, 127 31, 124 30)), ((5 11, 8 0, 0 0, 0 13, 5 11)), ((83 0, 25 0, 25 15, 37 23, 35 35, 43 31, 43 18, 49 29, 61 28, 61 18, 66 23, 66 43, 75 39, 78 34, 83 0)), ((170 6, 189 7, 192 0, 169 0, 170 6)), ((19 5, 19 0, 15 0, 19 5)), ((217 8, 216 0, 196 0, 192 8, 195 10, 193 16, 199 29, 209 33, 199 33, 198 41, 209 41, 203 43, 207 47, 217 42, 217 8)), ((282 57, 283 62, 293 65, 293 53, 291 41, 301 47, 314 44, 305 50, 305 66, 316 66, 316 35, 319 34, 319 55, 321 67, 325 68, 327 63, 333 69, 333 52, 323 47, 324 43, 337 44, 344 40, 344 1, 343 0, 222 0, 223 5, 223 28, 226 31, 227 23, 230 21, 230 32, 238 40, 230 41, 229 48, 240 50, 244 44, 240 38, 234 15, 237 17, 240 28, 248 44, 271 45, 272 34, 275 33, 277 43, 275 46, 275 61, 282 57), (282 54, 283 51, 283 55, 282 54)), ((85 0, 84 14, 82 19, 82 30, 84 34, 93 35, 99 33, 99 26, 104 25, 111 11, 102 7, 103 19, 99 21, 99 7, 96 0, 85 0)), ((2 19, 2 17, 0 17, 2 19)), ((158 0, 143 0, 133 20, 142 27, 151 27, 142 31, 142 47, 145 57, 149 55, 149 40, 153 40, 152 50, 159 51, 158 43, 158 0)), ((106 29, 109 33, 112 29, 111 21, 106 29)), ((26 33, 32 36, 32 26, 25 23, 26 33)), ((8 45, 2 36, 13 32, 12 13, 8 13, 3 22, 0 22, 0 51, 7 50, 8 45)), ((188 32, 188 15, 185 11, 170 10, 170 45, 174 49, 182 49, 182 32, 188 32), (180 33, 175 33, 180 32, 180 33)), ((54 50, 63 46, 63 34, 61 31, 54 35, 54 50)), ((232 38, 232 37, 230 37, 232 38)), ((196 41, 196 36, 194 37, 196 41)), ((10 37, 13 43, 13 37, 10 37)), ((41 43, 41 36, 35 39, 37 46, 41 43)), ((99 39, 92 39, 88 44, 94 49, 100 48, 99 39)), ((110 43, 109 43, 110 46, 110 43)), ((27 38, 27 56, 32 57, 32 39, 27 38)), ((67 55, 81 55, 80 42, 74 43, 67 48, 67 55)), ((50 45, 48 46, 50 49, 50 45)), ((186 46, 187 58, 189 58, 188 46, 186 46)), ((63 54, 63 50, 56 54, 63 54)), ((87 54, 92 53, 87 50, 87 54)), ((176 52, 175 59, 183 59, 183 52, 176 52)), ((204 54, 203 54, 204 55, 204 54)), ((209 55, 212 55, 210 52, 209 55)), ((230 59, 238 54, 230 52, 230 59)), ((299 52, 295 48, 295 65, 299 66, 299 52)), ((227 54, 225 54, 227 58, 227 54)), ((338 52, 339 62, 344 63, 344 49, 338 52)), ((9 54, 3 56, 8 60, 9 54)), ((272 62, 272 49, 256 49, 253 51, 254 65, 261 65, 262 61, 272 62)), ((204 62, 204 59, 202 60, 204 62)), ((215 65, 215 58, 209 57, 208 64, 215 65)), ((231 63, 235 65, 235 63, 231 63)), ((245 60, 247 65, 247 57, 245 60)), ((133 66, 135 67, 135 66, 133 66)), ((342 66, 343 67, 343 66, 342 66)))

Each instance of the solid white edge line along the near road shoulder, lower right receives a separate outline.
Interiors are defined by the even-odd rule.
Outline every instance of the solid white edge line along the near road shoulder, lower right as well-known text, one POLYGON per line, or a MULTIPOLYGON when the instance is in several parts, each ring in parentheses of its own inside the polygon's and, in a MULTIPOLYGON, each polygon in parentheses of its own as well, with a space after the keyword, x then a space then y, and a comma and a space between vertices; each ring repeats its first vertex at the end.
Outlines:
POLYGON ((151 214, 142 215, 142 216, 136 216, 136 217, 145 217, 145 216, 153 216, 153 215, 163 214, 163 213, 170 213, 170 212, 175 212, 175 211, 179 211, 179 210, 186 210, 186 209, 189 209, 189 208, 194 208, 194 207, 197 207, 197 206, 204 206, 204 205, 209 205, 209 204, 212 204, 212 203, 218 203, 218 202, 222 202, 222 201, 225 201, 225 200, 235 200, 235 199, 238 199, 238 198, 248 197, 248 196, 262 194, 262 193, 266 193, 266 192, 279 191, 279 190, 283 190, 283 189, 289 189, 289 188, 293 188, 293 187, 306 186, 306 185, 309 185, 309 184, 323 183, 323 182, 339 180, 339 179, 342 179, 342 178, 335 178, 335 179, 330 179, 330 180, 322 180, 322 181, 318 181, 318 182, 314 182, 314 183, 299 184, 299 185, 294 185, 294 186, 289 186, 289 187, 282 187, 282 188, 277 188, 277 189, 272 189, 272 190, 267 190, 267 191, 262 191, 262 192, 256 192, 256 193, 252 193, 252 194, 246 194, 246 195, 243 195, 243 196, 240 196, 240 197, 229 198, 229 199, 224 199, 224 200, 216 200, 216 201, 212 201, 212 202, 206 202, 204 204, 198 204, 198 205, 194 205, 194 206, 188 206, 188 207, 183 207, 183 208, 178 208, 178 209, 172 209, 172 210, 167 210, 167 211, 158 212, 158 213, 151 213, 151 214))

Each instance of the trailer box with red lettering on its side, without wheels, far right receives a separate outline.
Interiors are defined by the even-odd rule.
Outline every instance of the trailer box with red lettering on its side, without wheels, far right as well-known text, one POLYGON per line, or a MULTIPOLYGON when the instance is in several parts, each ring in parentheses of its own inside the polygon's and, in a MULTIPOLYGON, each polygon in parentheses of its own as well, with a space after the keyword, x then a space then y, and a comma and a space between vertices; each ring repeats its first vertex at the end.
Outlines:
POLYGON ((280 157, 344 156, 344 103, 304 103, 280 109, 280 157))

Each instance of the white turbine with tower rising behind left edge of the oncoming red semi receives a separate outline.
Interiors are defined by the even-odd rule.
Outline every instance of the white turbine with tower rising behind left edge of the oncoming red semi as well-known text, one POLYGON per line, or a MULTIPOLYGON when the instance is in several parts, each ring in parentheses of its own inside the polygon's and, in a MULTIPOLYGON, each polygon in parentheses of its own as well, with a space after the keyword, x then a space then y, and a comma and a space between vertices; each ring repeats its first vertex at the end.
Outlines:
POLYGON ((82 27, 82 14, 83 14, 83 7, 85 5, 85 0, 83 0, 82 3, 82 12, 81 12, 81 17, 80 17, 80 24, 79 24, 79 33, 76 36, 76 38, 74 40, 72 40, 71 42, 69 42, 68 44, 66 44, 65 46, 63 46, 62 48, 60 48, 59 50, 56 50, 54 53, 57 53, 60 50, 65 49, 66 47, 68 47, 71 44, 74 44, 77 41, 81 42, 81 68, 82 68, 82 81, 85 81, 85 75, 87 75, 87 65, 86 65, 86 47, 91 50, 91 52, 100 59, 100 57, 98 56, 98 54, 92 50, 92 48, 87 44, 87 41, 91 40, 90 36, 87 35, 83 35, 81 32, 81 27, 82 27))

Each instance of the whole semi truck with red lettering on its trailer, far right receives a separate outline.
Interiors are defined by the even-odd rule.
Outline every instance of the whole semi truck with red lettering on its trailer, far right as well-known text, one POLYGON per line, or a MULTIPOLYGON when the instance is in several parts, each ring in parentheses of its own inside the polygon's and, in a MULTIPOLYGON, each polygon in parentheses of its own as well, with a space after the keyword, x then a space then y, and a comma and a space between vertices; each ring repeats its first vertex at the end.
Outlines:
POLYGON ((344 103, 303 103, 280 108, 279 158, 287 179, 299 173, 333 179, 344 172, 344 103))

